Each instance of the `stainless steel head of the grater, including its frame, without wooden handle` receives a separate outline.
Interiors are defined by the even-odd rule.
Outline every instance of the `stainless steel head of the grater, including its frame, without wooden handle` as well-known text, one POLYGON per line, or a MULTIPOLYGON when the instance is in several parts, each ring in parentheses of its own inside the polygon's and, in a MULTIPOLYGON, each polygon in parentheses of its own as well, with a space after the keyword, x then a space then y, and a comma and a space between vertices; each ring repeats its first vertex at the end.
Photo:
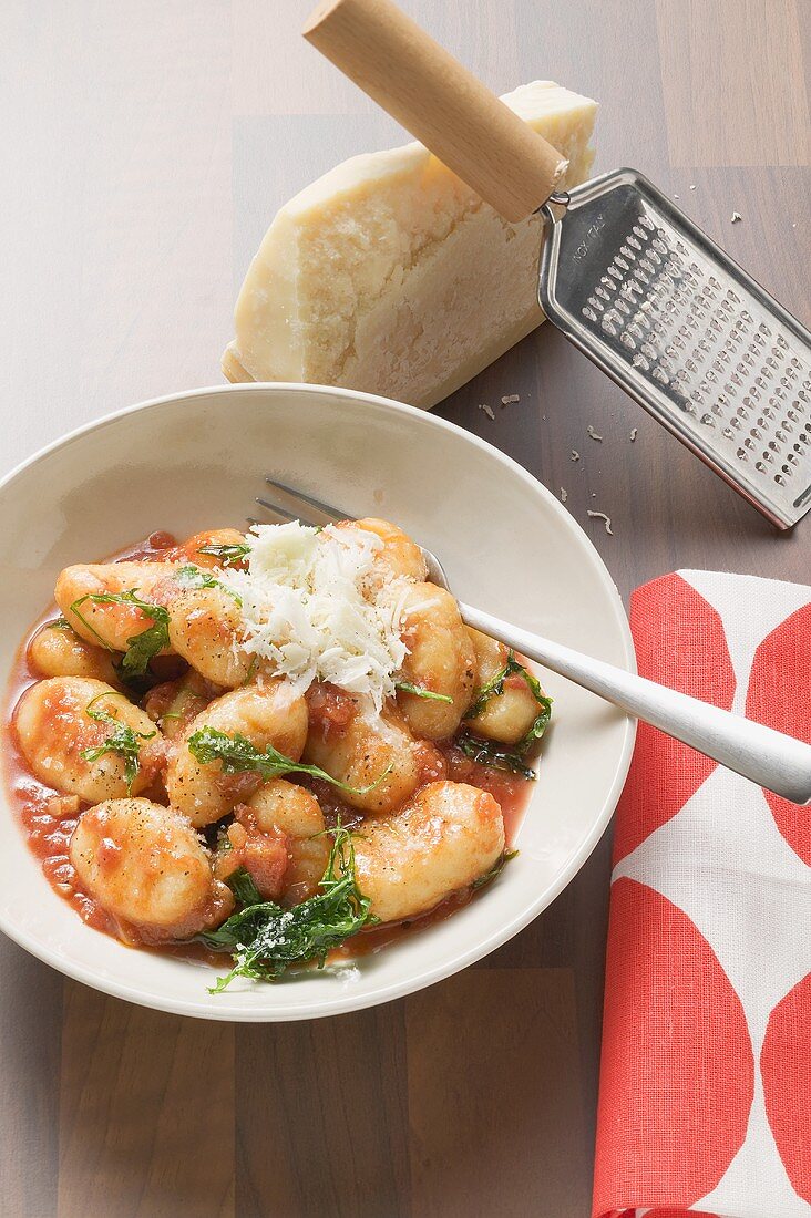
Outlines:
POLYGON ((541 212, 546 317, 773 524, 795 525, 811 508, 811 334, 634 169, 541 212))

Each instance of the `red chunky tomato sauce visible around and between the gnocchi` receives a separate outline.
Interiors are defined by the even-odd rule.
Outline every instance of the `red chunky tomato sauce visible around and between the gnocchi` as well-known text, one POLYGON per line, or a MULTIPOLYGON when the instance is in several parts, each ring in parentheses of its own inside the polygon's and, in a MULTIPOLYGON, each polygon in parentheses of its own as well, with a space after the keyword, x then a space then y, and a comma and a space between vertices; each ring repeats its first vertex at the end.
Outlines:
MULTIPOLYGON (((172 533, 159 531, 151 533, 145 541, 121 549, 101 561, 162 561, 170 558, 177 560, 178 553, 179 547, 172 533)), ((29 686, 41 680, 29 664, 30 643, 34 636, 57 616, 59 611, 51 605, 34 622, 28 636, 21 643, 6 689, 2 723, 0 725, 0 776, 5 780, 28 847, 40 861, 43 873, 54 892, 62 896, 88 926, 118 938, 127 946, 135 945, 141 950, 168 952, 209 965, 220 972, 227 972, 230 960, 228 954, 210 951, 201 944, 166 943, 160 946, 143 943, 132 944, 124 928, 83 892, 79 884, 70 861, 68 847, 79 814, 89 804, 76 797, 60 794, 32 775, 20 749, 13 725, 15 709, 22 694, 29 686)), ((166 675, 172 676, 173 674, 167 671, 166 675)), ((335 687, 315 689, 309 694, 309 702, 311 711, 315 711, 322 721, 326 734, 340 732, 348 721, 350 704, 354 706, 351 698, 335 687)), ((520 775, 494 770, 472 761, 452 741, 440 741, 437 744, 428 741, 418 742, 418 765, 420 786, 450 778, 489 790, 501 806, 507 847, 513 844, 529 801, 531 782, 520 775)), ((234 775, 233 781, 240 789, 245 788, 246 798, 257 784, 256 776, 250 773, 234 775)), ((361 823, 362 817, 357 809, 345 804, 329 783, 307 776, 298 776, 298 781, 317 797, 328 827, 334 827, 339 820, 346 828, 361 823)), ((474 899, 476 893, 471 889, 452 893, 435 909, 420 917, 362 931, 340 948, 334 949, 328 959, 329 961, 341 961, 380 951, 383 948, 401 940, 405 935, 450 917, 456 910, 474 899)))

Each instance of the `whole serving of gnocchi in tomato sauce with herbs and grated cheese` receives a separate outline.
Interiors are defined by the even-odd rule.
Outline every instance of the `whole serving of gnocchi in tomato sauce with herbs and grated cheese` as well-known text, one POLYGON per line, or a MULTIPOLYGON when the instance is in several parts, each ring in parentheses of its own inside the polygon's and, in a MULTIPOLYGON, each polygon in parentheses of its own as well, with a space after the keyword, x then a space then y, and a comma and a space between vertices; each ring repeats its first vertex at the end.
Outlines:
POLYGON ((15 793, 91 926, 224 960, 218 990, 379 946, 500 872, 548 705, 398 525, 154 532, 55 600, 15 793))

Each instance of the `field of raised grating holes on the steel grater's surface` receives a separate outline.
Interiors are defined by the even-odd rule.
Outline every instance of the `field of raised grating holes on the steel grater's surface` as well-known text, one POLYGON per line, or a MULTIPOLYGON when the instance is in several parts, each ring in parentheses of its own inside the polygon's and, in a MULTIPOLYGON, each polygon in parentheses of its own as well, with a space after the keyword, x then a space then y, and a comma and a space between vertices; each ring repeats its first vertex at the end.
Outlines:
POLYGON ((683 420, 685 437, 704 435, 710 457, 735 462, 737 453, 743 485, 788 501, 788 485, 811 459, 811 362, 795 356, 777 318, 655 209, 613 236, 574 315, 683 420))

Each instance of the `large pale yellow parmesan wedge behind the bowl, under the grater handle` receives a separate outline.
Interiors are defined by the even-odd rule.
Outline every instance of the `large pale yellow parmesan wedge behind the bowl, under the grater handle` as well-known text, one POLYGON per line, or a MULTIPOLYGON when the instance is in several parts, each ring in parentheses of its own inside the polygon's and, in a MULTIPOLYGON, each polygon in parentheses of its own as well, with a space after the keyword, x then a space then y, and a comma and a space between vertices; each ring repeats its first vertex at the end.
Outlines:
MULTIPOLYGON (((591 167, 596 102, 549 80, 502 99, 591 167)), ((543 224, 510 224, 422 144, 356 156, 287 203, 245 276, 232 381, 341 385, 431 407, 544 320, 543 224)))

